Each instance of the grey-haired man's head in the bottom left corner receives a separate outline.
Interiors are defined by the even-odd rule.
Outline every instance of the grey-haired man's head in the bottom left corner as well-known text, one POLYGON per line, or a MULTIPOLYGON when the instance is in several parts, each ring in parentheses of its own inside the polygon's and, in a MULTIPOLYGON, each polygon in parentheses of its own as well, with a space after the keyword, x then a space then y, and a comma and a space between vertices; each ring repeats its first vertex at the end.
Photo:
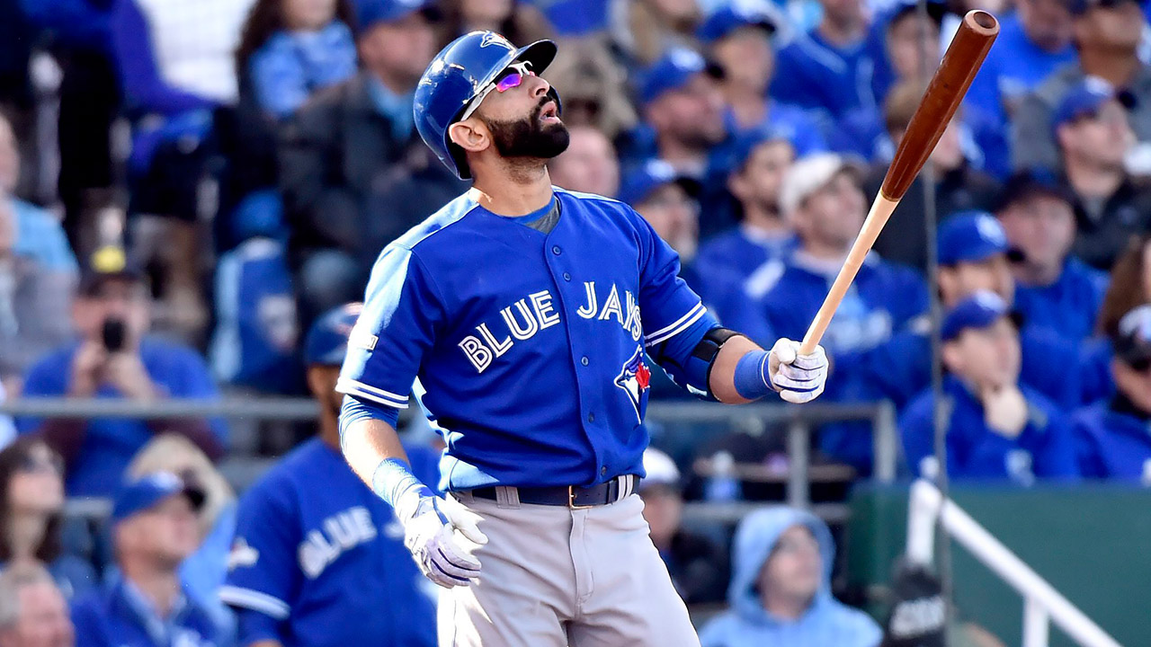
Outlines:
POLYGON ((73 647, 68 604, 43 566, 0 573, 0 647, 73 647))

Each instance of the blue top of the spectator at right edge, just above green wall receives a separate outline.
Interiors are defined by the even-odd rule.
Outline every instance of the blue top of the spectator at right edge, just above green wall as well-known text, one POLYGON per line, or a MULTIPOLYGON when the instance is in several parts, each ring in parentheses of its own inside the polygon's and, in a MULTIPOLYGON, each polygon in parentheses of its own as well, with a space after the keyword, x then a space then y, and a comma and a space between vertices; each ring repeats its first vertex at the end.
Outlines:
POLYGON ((1096 403, 1075 412, 1072 425, 1085 478, 1137 481, 1151 469, 1151 420, 1130 404, 1096 403))

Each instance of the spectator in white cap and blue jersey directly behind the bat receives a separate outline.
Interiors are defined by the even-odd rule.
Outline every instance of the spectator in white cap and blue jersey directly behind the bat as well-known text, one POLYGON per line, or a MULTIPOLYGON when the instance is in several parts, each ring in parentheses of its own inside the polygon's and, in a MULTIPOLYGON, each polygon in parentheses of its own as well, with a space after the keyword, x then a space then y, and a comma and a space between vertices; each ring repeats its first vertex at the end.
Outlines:
MULTIPOLYGON (((745 288, 776 335, 798 338, 843 267, 863 224, 867 201, 860 170, 838 154, 821 153, 792 165, 779 203, 795 228, 799 246, 756 269, 745 288)), ((824 397, 832 402, 878 399, 870 380, 859 374, 860 360, 921 314, 927 300, 915 271, 870 254, 823 337, 836 372, 824 397)), ((829 425, 820 432, 820 447, 863 473, 870 470, 871 434, 863 425, 829 425)))

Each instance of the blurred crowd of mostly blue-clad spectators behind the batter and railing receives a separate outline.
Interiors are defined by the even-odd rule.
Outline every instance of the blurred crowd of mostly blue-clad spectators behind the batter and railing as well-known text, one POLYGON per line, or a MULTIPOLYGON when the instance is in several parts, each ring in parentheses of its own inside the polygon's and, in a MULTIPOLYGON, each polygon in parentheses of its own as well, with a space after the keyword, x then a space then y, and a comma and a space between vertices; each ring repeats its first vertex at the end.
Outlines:
MULTIPOLYGON (((467 188, 420 142, 412 94, 441 46, 481 29, 559 43, 556 185, 633 206, 725 326, 765 348, 801 338, 973 8, 1000 36, 828 329, 822 399, 892 402, 902 474, 942 469, 939 405, 952 479, 1151 484, 1136 0, 0 0, 0 401, 315 394, 327 411, 303 333, 467 188)), ((643 493, 653 539, 689 602, 723 600, 731 576, 726 538, 681 534, 683 498, 778 495, 731 470, 785 467, 775 432, 651 425, 671 455, 643 493)), ((215 593, 246 555, 228 557, 243 510, 213 466, 222 420, 0 417, 0 647, 70 645, 73 624, 117 645, 235 635, 215 593), (110 497, 109 522, 66 524, 77 496, 110 497), (20 629, 28 609, 43 627, 20 629)), ((871 448, 862 421, 813 447, 847 481, 871 448)), ((826 527, 788 515, 745 520, 734 616, 707 645, 744 644, 760 601, 780 603, 772 547, 818 576, 800 616, 824 595, 826 527)), ((237 586, 231 608, 288 622, 291 601, 237 586)))

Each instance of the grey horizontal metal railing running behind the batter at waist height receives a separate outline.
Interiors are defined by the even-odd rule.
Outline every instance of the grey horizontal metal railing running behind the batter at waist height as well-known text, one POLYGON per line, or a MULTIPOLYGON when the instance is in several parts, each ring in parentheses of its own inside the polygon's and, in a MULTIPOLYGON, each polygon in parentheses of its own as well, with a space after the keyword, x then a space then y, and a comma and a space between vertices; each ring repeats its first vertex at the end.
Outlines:
MULTIPOLYGON (((402 419, 412 416, 411 409, 402 419)), ((0 414, 36 418, 143 418, 152 420, 178 418, 224 418, 254 421, 314 420, 318 405, 310 398, 291 397, 235 397, 216 401, 162 399, 136 402, 110 398, 43 398, 24 397, 0 403, 0 414)), ((810 507, 810 437, 813 428, 824 423, 869 420, 875 450, 874 478, 891 482, 895 478, 899 444, 895 435, 895 414, 890 403, 803 405, 755 403, 740 406, 706 402, 653 402, 647 418, 665 424, 712 423, 738 426, 755 421, 765 425, 785 425, 790 457, 787 503, 798 508, 810 507)))

